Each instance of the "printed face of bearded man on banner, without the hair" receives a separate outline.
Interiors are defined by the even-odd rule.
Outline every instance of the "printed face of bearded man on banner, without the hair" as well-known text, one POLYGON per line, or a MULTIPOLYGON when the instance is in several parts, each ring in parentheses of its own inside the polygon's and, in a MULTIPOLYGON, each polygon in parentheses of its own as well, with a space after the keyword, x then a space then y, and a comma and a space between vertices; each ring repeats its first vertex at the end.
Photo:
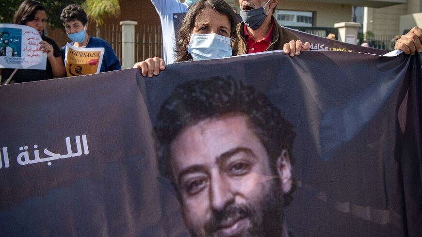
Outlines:
POLYGON ((283 192, 245 115, 188 126, 171 157, 192 236, 281 236, 283 192))

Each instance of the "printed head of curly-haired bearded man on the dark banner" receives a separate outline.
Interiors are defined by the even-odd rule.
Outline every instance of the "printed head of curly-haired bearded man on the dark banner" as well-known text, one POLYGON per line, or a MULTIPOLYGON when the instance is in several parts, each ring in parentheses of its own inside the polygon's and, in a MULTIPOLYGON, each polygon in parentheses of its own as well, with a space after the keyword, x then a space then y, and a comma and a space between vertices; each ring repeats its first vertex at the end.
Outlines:
POLYGON ((193 237, 285 237, 293 126, 234 79, 179 85, 154 127, 160 173, 193 237))

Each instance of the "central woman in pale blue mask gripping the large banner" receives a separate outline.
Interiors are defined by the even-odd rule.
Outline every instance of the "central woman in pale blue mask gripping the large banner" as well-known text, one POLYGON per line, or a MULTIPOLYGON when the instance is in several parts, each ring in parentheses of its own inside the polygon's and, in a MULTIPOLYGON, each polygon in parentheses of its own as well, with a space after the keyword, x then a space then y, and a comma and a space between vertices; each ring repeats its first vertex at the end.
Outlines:
MULTIPOLYGON (((236 15, 224 0, 202 0, 184 17, 176 39, 176 62, 229 57, 236 52, 236 15)), ((143 76, 158 75, 165 62, 158 57, 135 63, 143 76), (149 70, 148 70, 149 69, 149 70)))

